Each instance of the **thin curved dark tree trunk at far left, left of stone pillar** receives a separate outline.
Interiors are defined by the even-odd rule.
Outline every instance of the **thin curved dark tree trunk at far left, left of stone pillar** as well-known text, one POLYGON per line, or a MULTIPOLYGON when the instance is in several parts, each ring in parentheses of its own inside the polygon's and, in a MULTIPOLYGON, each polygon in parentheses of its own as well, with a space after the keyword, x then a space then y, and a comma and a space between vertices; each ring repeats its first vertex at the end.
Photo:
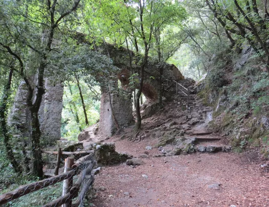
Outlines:
POLYGON ((9 162, 11 163, 11 165, 13 166, 15 172, 22 173, 22 168, 20 168, 18 162, 16 161, 15 156, 13 154, 12 147, 10 145, 10 140, 9 140, 10 134, 8 133, 7 122, 6 122, 7 103, 11 94, 10 87, 11 87, 12 76, 13 76, 13 68, 10 69, 8 82, 4 86, 3 97, 0 103, 0 123, 1 123, 1 131, 4 136, 4 144, 5 144, 5 148, 7 152, 7 158, 9 162))

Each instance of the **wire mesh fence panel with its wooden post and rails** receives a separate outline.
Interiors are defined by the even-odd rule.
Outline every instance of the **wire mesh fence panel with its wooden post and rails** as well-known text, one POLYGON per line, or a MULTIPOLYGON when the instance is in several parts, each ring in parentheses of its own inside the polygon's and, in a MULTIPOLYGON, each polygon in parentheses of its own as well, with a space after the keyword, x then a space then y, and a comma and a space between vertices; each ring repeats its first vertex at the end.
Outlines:
MULTIPOLYGON (((53 166, 55 167, 55 166, 53 166)), ((83 206, 84 198, 92 187, 96 172, 94 154, 65 159, 64 173, 20 186, 0 195, 0 205, 6 206, 83 206)))

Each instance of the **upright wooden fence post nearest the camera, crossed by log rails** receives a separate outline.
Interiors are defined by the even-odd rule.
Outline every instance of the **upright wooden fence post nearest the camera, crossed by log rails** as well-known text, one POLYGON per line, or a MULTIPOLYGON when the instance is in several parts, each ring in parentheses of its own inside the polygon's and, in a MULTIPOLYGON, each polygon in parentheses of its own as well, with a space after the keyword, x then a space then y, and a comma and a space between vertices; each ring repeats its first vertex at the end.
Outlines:
MULTIPOLYGON (((68 171, 72 170, 73 165, 74 165, 74 158, 67 157, 65 159, 65 171, 64 172, 68 172, 68 171)), ((63 196, 69 193, 70 187, 72 186, 72 183, 73 183, 73 177, 64 180, 63 196)), ((72 195, 70 195, 70 196, 72 196, 72 195)), ((72 199, 69 200, 67 203, 63 204, 62 207, 70 207, 71 205, 72 205, 72 199)))

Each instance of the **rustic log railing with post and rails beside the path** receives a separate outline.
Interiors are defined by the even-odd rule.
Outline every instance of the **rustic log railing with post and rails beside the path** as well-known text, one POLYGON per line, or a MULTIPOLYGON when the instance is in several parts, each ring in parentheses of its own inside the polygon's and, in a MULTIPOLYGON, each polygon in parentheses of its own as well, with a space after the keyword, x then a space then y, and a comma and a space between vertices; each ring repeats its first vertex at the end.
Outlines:
MULTIPOLYGON (((48 152, 48 151, 47 151, 48 152)), ((43 151, 43 153, 47 153, 43 151)), ((76 163, 74 163, 74 158, 68 157, 65 159, 65 171, 62 174, 40 180, 37 182, 30 183, 29 185, 20 186, 14 191, 5 193, 0 195, 0 205, 6 204, 9 201, 15 200, 19 197, 25 196, 29 193, 38 191, 43 188, 47 188, 49 186, 54 185, 55 183, 64 181, 63 184, 63 195, 55 200, 52 200, 50 203, 43 205, 43 207, 57 207, 63 205, 63 207, 77 207, 81 203, 81 199, 83 199, 87 193, 87 190, 91 187, 94 181, 94 174, 97 169, 94 169, 96 165, 96 161, 94 159, 93 151, 81 151, 80 153, 77 152, 61 152, 59 149, 56 153, 57 154, 57 164, 59 163, 59 156, 60 154, 82 154, 85 152, 89 152, 90 154, 79 158, 76 163), (74 185, 73 177, 78 175, 78 178, 74 185), (78 196, 79 189, 80 194, 78 196), (76 198, 72 204, 72 199, 76 198)), ((57 169, 58 170, 58 169, 57 169)))

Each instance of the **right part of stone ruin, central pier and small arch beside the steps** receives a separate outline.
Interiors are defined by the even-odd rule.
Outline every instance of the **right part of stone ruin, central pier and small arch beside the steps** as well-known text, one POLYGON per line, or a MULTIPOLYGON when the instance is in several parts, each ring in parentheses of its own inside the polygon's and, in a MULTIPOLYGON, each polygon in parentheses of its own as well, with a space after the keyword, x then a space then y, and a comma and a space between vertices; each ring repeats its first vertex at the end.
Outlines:
MULTIPOLYGON (((110 58, 113 60, 113 64, 122 69, 121 72, 117 74, 117 78, 120 80, 121 86, 126 90, 126 93, 128 93, 128 91, 130 93, 129 78, 132 73, 128 55, 129 52, 125 48, 115 47, 115 45, 112 44, 108 44, 107 47, 110 52, 110 58)), ((132 56, 134 57, 132 60, 133 73, 139 74, 140 66, 138 65, 138 59, 133 53, 132 56), (134 62, 137 62, 137 64, 134 62)), ((139 77, 134 78, 139 79, 139 77)), ((146 96, 147 102, 150 104, 157 104, 161 88, 163 88, 162 96, 165 98, 169 97, 171 95, 171 88, 175 88, 173 80, 184 80, 184 76, 179 72, 175 65, 165 62, 155 62, 150 59, 144 69, 144 81, 142 87, 142 93, 146 96), (162 85, 160 84, 160 71, 162 71, 162 85)), ((139 84, 135 84, 135 87, 138 88, 139 84)), ((120 126, 127 126, 134 123, 131 97, 126 98, 119 94, 114 94, 112 97, 112 106, 115 117, 117 118, 120 126)), ((156 112, 156 107, 151 108, 154 108, 154 111, 156 112)), ((149 113, 154 112, 150 111, 149 113)), ((102 93, 98 133, 107 137, 112 136, 115 130, 116 127, 111 116, 108 95, 106 93, 102 93)))

